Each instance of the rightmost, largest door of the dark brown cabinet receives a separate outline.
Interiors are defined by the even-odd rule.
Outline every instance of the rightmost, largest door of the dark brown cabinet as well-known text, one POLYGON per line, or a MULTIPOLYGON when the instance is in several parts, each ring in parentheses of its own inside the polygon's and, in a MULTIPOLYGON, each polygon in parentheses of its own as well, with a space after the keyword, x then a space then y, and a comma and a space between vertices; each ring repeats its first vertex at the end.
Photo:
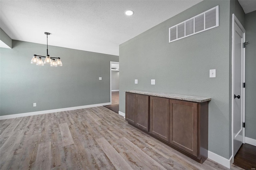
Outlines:
POLYGON ((197 103, 170 100, 170 143, 198 155, 197 103))

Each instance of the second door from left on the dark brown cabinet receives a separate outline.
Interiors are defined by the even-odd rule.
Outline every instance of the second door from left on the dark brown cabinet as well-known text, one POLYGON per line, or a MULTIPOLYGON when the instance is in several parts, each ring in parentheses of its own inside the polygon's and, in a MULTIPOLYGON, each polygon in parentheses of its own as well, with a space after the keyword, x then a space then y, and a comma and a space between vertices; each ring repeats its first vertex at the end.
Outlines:
POLYGON ((136 125, 146 131, 148 131, 148 98, 147 95, 136 95, 136 125))

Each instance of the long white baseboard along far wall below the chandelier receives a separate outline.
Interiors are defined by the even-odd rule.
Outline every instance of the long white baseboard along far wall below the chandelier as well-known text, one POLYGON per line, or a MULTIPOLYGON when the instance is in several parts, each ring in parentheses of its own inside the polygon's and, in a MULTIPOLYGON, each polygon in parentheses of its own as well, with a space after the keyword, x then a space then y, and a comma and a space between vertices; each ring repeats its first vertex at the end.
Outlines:
POLYGON ((4 115, 4 116, 0 116, 0 120, 2 120, 2 119, 12 119, 12 118, 16 118, 16 117, 32 116, 32 115, 41 115, 41 114, 46 114, 46 113, 72 111, 72 110, 76 110, 76 109, 85 109, 85 108, 89 108, 89 107, 98 107, 98 106, 105 106, 105 105, 110 105, 110 104, 111 103, 100 103, 100 104, 94 104, 94 105, 67 107, 67 108, 62 108, 62 109, 52 109, 52 110, 46 110, 46 111, 19 113, 19 114, 14 114, 14 115, 4 115))

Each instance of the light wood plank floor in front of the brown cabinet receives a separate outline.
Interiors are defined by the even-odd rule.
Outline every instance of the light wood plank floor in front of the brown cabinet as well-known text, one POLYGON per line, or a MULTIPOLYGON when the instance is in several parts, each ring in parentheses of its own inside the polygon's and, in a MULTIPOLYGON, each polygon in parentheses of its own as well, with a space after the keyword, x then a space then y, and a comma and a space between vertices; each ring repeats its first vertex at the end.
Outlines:
POLYGON ((113 111, 94 107, 1 120, 0 169, 228 168, 209 159, 199 164, 113 111))

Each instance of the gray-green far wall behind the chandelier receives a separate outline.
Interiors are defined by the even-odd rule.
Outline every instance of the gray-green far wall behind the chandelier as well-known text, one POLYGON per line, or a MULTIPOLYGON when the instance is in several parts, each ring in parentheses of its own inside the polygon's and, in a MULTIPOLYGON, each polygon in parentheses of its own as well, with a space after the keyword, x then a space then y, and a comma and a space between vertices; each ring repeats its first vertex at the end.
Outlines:
POLYGON ((33 54, 46 55, 46 45, 13 40, 12 49, 0 48, 1 116, 110 102, 109 63, 118 56, 48 49, 61 57, 62 67, 30 64, 33 54))

